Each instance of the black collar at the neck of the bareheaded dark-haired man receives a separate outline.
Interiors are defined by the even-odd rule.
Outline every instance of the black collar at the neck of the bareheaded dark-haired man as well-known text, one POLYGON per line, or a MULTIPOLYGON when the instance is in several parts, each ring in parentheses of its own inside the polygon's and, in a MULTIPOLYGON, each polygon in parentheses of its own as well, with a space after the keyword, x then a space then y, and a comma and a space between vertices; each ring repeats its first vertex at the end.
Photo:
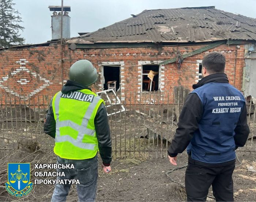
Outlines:
POLYGON ((192 88, 199 88, 206 83, 229 83, 229 80, 227 79, 227 75, 224 73, 211 74, 201 79, 197 84, 194 84, 192 88))

